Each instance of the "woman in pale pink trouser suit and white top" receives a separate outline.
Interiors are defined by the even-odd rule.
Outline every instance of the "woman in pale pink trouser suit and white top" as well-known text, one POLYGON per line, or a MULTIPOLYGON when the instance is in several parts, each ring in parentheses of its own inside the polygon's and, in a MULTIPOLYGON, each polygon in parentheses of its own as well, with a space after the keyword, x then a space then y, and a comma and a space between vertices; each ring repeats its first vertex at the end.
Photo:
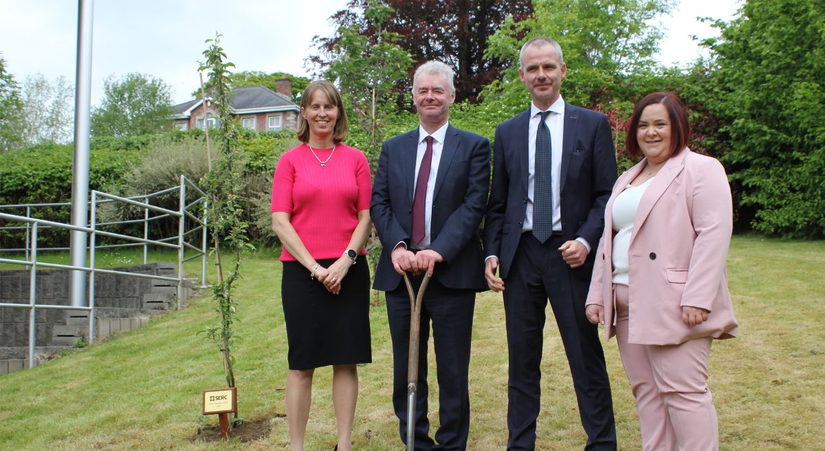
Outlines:
POLYGON ((736 335, 725 258, 733 228, 719 161, 686 147, 676 95, 636 105, 630 156, 607 202, 587 318, 614 334, 636 398, 644 451, 719 449, 707 385, 710 343, 736 335))

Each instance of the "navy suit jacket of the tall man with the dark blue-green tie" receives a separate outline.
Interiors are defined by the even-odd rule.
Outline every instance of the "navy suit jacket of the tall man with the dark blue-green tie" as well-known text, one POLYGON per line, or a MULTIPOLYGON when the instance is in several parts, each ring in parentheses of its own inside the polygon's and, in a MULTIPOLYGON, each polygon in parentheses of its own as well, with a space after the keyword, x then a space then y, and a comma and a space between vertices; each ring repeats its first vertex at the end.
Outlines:
MULTIPOLYGON (((493 142, 493 188, 484 220, 484 249, 498 257, 502 278, 510 272, 527 207, 529 127, 527 109, 498 124, 493 142)), ((581 236, 591 245, 585 263, 573 269, 588 281, 617 172, 607 117, 565 102, 559 183, 562 235, 564 240, 581 236)))

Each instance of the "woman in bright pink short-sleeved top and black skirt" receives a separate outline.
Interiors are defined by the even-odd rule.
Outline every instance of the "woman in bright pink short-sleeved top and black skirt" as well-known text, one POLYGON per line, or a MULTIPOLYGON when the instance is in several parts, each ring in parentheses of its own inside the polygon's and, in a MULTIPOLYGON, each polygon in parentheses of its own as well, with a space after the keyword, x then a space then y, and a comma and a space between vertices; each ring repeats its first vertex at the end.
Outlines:
POLYGON ((347 115, 332 83, 307 86, 298 121, 304 144, 278 160, 271 208, 272 229, 283 244, 290 449, 304 449, 314 370, 332 365, 335 449, 351 451, 356 364, 372 360, 364 248, 370 231, 370 165, 361 151, 342 143, 347 115))

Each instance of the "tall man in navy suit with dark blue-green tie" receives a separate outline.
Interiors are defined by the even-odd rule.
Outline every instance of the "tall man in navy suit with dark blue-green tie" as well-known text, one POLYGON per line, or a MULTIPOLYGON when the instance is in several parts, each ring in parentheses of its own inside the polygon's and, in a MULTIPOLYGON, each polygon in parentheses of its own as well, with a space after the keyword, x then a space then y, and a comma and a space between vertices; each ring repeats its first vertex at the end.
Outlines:
POLYGON ((490 289, 503 291, 507 323, 507 450, 535 449, 549 299, 587 432, 585 449, 615 451, 610 380, 584 305, 616 179, 610 125, 604 114, 562 99, 567 66, 556 41, 527 41, 520 63, 532 102, 496 128, 484 223, 484 276, 490 289))

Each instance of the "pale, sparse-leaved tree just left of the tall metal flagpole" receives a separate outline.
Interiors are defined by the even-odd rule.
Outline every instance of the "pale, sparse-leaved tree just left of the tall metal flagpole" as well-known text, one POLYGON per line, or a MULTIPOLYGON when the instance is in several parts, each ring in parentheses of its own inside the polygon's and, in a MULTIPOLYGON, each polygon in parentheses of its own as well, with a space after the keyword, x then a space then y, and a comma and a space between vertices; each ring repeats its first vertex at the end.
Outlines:
POLYGON ((43 74, 23 82, 22 139, 26 146, 41 142, 71 141, 73 130, 73 86, 60 76, 50 83, 43 74))

